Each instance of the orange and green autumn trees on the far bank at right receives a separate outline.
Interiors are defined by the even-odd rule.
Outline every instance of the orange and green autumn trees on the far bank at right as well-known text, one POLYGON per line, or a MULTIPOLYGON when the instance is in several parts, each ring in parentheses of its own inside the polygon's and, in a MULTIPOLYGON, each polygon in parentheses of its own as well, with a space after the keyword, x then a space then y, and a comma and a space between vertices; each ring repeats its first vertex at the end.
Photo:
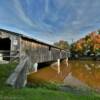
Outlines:
POLYGON ((71 51, 84 55, 85 52, 100 53, 100 31, 91 32, 89 35, 75 42, 71 51))

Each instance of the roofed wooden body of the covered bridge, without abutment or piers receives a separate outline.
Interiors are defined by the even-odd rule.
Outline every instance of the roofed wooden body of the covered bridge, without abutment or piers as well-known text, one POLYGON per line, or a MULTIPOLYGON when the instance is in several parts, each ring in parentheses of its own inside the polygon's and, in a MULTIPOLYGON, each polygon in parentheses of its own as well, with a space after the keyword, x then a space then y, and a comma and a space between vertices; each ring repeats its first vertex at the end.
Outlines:
POLYGON ((0 29, 0 60, 21 60, 28 55, 32 62, 47 62, 65 59, 67 52, 53 45, 38 41, 20 33, 0 29))

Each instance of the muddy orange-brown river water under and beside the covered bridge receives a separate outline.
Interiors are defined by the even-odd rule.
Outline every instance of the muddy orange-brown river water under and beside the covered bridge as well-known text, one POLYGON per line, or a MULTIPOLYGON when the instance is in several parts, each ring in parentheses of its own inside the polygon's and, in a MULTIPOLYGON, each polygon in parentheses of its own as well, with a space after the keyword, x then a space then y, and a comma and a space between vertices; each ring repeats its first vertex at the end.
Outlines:
POLYGON ((28 81, 34 82, 34 79, 45 80, 49 82, 66 83, 65 78, 71 75, 88 86, 100 89, 100 62, 99 61, 66 61, 61 62, 61 72, 57 73, 57 64, 39 69, 37 73, 28 75, 28 81))

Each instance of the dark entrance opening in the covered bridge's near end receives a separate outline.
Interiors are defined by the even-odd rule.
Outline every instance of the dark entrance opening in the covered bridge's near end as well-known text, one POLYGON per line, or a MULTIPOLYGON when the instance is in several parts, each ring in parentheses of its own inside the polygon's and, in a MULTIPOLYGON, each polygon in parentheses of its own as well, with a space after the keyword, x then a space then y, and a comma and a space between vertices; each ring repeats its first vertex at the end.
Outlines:
POLYGON ((0 56, 3 60, 10 60, 10 45, 11 40, 9 38, 0 38, 0 56))

